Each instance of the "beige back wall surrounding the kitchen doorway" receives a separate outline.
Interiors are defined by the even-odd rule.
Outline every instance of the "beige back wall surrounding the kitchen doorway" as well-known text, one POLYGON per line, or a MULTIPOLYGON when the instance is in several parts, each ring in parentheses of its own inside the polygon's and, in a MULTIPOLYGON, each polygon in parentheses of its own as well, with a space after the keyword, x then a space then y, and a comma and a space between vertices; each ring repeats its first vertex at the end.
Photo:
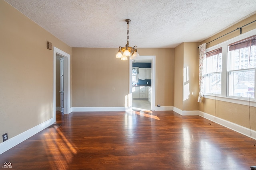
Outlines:
MULTIPOLYGON (((129 61, 116 59, 117 52, 118 49, 72 48, 72 107, 127 105, 129 61)), ((173 49, 138 52, 156 56, 156 104, 173 106, 173 49)))

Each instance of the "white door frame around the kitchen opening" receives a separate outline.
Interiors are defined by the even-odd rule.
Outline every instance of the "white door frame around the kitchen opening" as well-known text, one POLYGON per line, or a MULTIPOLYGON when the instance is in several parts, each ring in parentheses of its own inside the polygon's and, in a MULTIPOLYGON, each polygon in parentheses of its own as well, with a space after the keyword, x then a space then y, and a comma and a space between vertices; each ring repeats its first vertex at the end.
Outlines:
MULTIPOLYGON (((149 56, 140 56, 138 59, 149 59, 151 60, 151 88, 152 88, 152 94, 151 94, 151 110, 155 110, 155 103, 156 103, 156 56, 155 55, 149 55, 149 56)), ((132 60, 129 60, 129 108, 132 109, 132 60)))

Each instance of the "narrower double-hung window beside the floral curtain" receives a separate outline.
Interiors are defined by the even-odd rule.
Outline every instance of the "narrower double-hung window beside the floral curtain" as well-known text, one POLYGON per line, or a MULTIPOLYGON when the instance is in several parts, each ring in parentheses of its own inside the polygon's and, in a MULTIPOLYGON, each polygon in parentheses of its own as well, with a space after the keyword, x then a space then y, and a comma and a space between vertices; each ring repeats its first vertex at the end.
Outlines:
POLYGON ((206 53, 205 93, 221 94, 222 48, 206 53))

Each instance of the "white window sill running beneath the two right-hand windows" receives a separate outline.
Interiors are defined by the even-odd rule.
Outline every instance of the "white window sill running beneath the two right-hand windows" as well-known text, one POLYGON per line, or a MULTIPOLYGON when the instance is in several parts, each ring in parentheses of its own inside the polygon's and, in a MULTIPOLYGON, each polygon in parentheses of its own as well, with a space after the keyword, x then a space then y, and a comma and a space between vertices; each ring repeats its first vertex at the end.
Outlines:
POLYGON ((206 99, 213 99, 213 100, 219 100, 222 102, 230 102, 235 104, 242 104, 246 106, 254 106, 256 107, 256 101, 254 100, 244 100, 244 99, 238 99, 238 98, 227 98, 222 96, 212 96, 212 95, 204 95, 204 98, 206 99))

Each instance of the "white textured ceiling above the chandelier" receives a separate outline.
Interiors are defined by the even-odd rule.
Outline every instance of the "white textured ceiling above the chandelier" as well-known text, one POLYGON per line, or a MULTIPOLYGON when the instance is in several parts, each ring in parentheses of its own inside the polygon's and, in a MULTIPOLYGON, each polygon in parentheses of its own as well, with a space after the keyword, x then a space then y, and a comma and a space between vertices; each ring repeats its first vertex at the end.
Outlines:
MULTIPOLYGON (((256 0, 5 0, 71 47, 171 48, 256 14, 256 0)), ((242 25, 241 25, 242 26, 242 25)))

